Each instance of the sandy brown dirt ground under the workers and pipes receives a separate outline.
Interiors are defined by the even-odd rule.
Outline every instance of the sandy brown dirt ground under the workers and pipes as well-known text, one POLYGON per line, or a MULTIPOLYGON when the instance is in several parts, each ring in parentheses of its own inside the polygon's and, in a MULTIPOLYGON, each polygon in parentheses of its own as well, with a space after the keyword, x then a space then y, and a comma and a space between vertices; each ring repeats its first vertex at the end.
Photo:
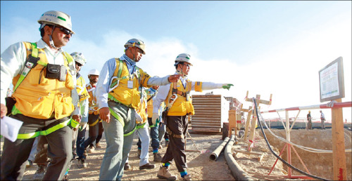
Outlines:
MULTIPOLYGON (((275 135, 285 138, 284 130, 272 130, 275 135)), ((189 130, 191 138, 187 138, 186 154, 188 172, 191 173, 193 180, 234 180, 230 168, 227 166, 225 157, 220 154, 217 161, 210 161, 210 154, 222 143, 222 134, 218 133, 196 133, 189 130), (195 142, 195 143, 194 143, 195 142), (200 152, 194 152, 197 150, 200 152)), ((284 147, 284 143, 274 138, 268 130, 265 131, 270 145, 274 151, 279 152, 284 147)), ((3 145, 4 138, 1 138, 1 148, 3 145)), ((332 149, 332 135, 331 129, 320 130, 292 130, 291 141, 307 147, 313 147, 317 149, 332 149)), ((351 148, 351 131, 345 130, 345 146, 346 149, 351 148)), ((156 177, 158 168, 161 163, 153 161, 153 155, 149 152, 149 161, 156 165, 156 168, 152 170, 139 170, 139 159, 137 158, 137 136, 134 137, 134 144, 130 152, 130 165, 132 170, 125 171, 122 180, 160 180, 156 177)), ((268 175, 272 166, 274 166, 277 158, 271 154, 265 140, 260 133, 260 130, 256 130, 256 139, 254 147, 251 150, 251 154, 246 151, 248 142, 244 142, 242 139, 237 139, 237 144, 232 147, 232 152, 237 154, 234 159, 239 163, 241 168, 252 178, 252 180, 293 180, 285 177, 287 175, 287 166, 281 161, 277 161, 275 168, 272 173, 268 175), (240 152, 242 151, 242 152, 240 152), (259 161, 259 155, 263 155, 263 159, 259 161)), ((88 168, 77 168, 77 162, 73 163, 69 171, 70 180, 99 180, 99 169, 101 166, 101 160, 106 148, 106 142, 103 138, 101 140, 103 148, 96 149, 96 151, 87 156, 88 168)), ((163 141, 163 146, 165 142, 163 141)), ((295 148, 298 155, 306 164, 306 167, 311 174, 319 177, 333 179, 332 172, 332 154, 315 154, 311 152, 303 151, 302 149, 295 148)), ((287 150, 287 149, 286 149, 287 150)), ((286 150, 282 154, 282 158, 286 159, 286 150)), ((151 149, 150 149, 151 151, 151 149)), ((165 154, 166 147, 163 147, 160 152, 165 154)), ((302 164, 299 162, 294 152, 292 155, 292 165, 304 170, 302 164)), ((351 152, 346 153, 346 166, 347 166, 347 178, 352 180, 351 177, 351 152)), ((23 180, 32 180, 36 166, 31 166, 25 171, 23 180)), ((173 174, 177 175, 180 179, 180 174, 172 164, 170 170, 173 174)), ((292 175, 300 175, 295 171, 292 175)))

